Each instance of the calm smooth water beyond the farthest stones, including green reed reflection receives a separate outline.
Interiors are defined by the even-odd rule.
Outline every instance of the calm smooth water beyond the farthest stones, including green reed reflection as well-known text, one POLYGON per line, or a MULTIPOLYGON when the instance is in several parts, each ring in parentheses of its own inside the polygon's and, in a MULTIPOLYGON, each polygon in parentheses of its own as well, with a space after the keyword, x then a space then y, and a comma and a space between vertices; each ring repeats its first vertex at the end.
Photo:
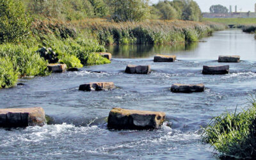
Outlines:
POLYGON ((156 54, 175 54, 178 60, 218 60, 220 55, 239 55, 241 60, 256 60, 254 35, 239 29, 217 31, 198 43, 175 45, 109 46, 113 58, 150 58, 156 54))

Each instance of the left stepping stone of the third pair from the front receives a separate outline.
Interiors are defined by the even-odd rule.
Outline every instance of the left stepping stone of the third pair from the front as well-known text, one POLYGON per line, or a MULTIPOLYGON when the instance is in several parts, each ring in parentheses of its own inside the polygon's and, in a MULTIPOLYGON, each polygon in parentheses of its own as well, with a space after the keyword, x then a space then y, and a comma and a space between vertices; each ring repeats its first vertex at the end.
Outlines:
POLYGON ((127 65, 125 73, 127 74, 150 74, 150 65, 127 65))

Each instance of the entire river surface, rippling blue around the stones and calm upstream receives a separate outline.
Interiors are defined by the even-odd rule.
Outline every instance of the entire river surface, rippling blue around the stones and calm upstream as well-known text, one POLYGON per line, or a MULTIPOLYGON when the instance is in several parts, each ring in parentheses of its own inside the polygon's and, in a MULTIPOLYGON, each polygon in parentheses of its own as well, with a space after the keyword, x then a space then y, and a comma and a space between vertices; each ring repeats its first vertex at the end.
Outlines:
POLYGON ((202 42, 170 46, 112 46, 108 65, 79 72, 20 79, 24 86, 0 90, 0 108, 41 106, 54 124, 0 129, 0 159, 216 159, 201 142, 202 126, 225 111, 241 111, 256 89, 256 41, 240 30, 218 31, 202 42), (175 54, 174 63, 154 63, 155 54, 175 54), (224 65, 220 54, 241 56, 230 74, 203 75, 203 65, 224 65), (126 65, 151 65, 149 75, 125 74, 126 65), (97 71, 97 72, 93 72, 97 71), (80 92, 79 84, 113 81, 106 92, 80 92), (203 93, 172 93, 173 83, 204 83, 203 93), (154 131, 113 131, 111 108, 163 111, 154 131), (166 125, 172 122, 172 127, 166 125))

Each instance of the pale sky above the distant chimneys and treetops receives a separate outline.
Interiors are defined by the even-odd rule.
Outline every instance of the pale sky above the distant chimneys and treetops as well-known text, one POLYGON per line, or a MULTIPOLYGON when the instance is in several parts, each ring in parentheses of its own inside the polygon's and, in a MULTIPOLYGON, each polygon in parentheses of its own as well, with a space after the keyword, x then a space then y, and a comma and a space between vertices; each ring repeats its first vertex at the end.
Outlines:
MULTIPOLYGON (((157 3, 159 0, 151 0, 152 3, 157 3)), ((202 12, 209 12, 209 8, 212 4, 221 4, 226 6, 229 10, 229 6, 232 5, 232 11, 235 11, 237 5, 237 12, 254 12, 255 0, 194 0, 200 6, 202 12)))

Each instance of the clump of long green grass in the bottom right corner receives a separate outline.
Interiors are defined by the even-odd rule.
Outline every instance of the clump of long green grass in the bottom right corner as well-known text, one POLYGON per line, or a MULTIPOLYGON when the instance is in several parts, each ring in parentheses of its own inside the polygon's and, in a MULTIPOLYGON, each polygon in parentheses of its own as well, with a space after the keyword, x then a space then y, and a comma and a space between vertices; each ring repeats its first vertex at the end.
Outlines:
POLYGON ((255 159, 256 101, 241 113, 223 113, 205 128, 204 141, 218 150, 222 157, 255 159))

